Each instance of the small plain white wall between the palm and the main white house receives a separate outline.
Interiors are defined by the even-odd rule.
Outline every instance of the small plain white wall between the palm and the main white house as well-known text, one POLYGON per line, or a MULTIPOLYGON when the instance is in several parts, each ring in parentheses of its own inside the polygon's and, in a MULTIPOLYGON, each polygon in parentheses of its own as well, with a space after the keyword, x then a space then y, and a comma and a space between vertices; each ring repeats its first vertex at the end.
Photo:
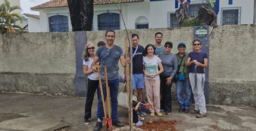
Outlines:
POLYGON ((41 32, 39 19, 28 17, 28 32, 29 33, 41 32))

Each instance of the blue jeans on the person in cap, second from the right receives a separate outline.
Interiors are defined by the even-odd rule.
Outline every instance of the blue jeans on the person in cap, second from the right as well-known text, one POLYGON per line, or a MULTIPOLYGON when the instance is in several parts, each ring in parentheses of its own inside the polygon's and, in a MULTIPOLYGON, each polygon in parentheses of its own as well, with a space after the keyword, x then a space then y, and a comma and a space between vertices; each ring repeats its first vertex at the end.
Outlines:
POLYGON ((184 81, 178 80, 176 82, 176 91, 180 108, 189 109, 191 103, 191 88, 189 78, 185 78, 184 81), (183 90, 185 91, 185 98, 183 98, 183 90))

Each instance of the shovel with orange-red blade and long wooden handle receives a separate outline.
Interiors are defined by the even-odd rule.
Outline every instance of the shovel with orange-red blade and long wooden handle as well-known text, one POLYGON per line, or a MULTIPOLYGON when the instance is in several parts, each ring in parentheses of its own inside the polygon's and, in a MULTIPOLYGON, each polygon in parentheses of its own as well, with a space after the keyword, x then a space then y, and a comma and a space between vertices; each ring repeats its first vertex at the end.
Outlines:
POLYGON ((107 66, 104 66, 105 79, 106 79, 106 90, 107 90, 107 111, 109 111, 109 117, 105 117, 106 130, 112 130, 112 120, 111 120, 111 108, 110 108, 110 92, 109 92, 109 82, 107 81, 107 66))

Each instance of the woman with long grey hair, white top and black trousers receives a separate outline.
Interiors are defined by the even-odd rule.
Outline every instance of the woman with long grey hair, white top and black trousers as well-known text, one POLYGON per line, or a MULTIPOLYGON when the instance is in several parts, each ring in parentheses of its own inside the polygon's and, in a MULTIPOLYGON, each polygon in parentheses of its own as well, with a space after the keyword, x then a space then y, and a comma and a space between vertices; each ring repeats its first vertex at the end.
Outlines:
POLYGON ((89 118, 91 118, 91 108, 94 93, 99 86, 99 77, 97 72, 93 72, 91 70, 91 64, 93 62, 93 58, 95 53, 95 46, 92 43, 88 43, 85 45, 85 50, 83 51, 82 59, 83 59, 83 74, 88 76, 87 80, 87 97, 85 103, 85 124, 89 123, 89 118))

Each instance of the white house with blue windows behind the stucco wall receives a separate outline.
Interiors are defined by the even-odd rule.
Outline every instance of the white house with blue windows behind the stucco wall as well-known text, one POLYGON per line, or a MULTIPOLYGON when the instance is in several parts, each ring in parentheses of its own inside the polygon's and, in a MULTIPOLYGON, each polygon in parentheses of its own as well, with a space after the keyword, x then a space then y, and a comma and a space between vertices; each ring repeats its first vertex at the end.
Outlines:
MULTIPOLYGON (((174 13, 179 4, 175 0, 94 0, 93 30, 125 29, 121 9, 127 29, 178 27, 174 13)), ((194 17, 199 7, 210 7, 205 0, 190 2, 189 14, 194 17)), ((253 24, 254 0, 216 0, 218 25, 253 24)), ((67 32, 72 30, 67 0, 53 0, 31 7, 40 12, 40 19, 29 20, 29 32, 67 32)), ((28 16, 29 17, 29 16, 28 16)))

